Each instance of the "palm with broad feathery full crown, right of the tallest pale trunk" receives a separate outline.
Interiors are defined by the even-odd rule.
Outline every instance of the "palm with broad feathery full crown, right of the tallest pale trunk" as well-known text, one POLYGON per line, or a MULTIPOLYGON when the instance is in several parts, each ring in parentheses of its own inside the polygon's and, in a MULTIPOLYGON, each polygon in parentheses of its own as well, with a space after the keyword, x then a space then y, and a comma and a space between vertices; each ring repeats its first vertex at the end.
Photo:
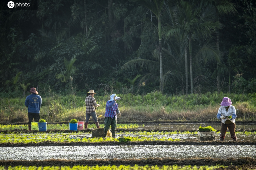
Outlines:
MULTIPOLYGON (((210 37, 211 33, 220 27, 219 22, 213 22, 210 15, 205 15, 202 7, 181 0, 177 5, 174 15, 174 25, 166 27, 166 35, 179 35, 182 38, 183 48, 188 41, 190 62, 190 92, 193 93, 193 64, 192 64, 192 40, 198 37, 210 37), (204 14, 204 15, 200 15, 204 14)), ((185 51, 185 50, 184 50, 185 51)))

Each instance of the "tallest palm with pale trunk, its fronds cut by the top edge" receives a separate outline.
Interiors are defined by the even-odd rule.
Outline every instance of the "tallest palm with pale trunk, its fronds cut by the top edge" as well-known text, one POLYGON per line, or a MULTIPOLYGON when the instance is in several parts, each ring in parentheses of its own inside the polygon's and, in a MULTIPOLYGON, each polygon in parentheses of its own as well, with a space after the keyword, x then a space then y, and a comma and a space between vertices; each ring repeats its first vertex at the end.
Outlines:
POLYGON ((162 59, 162 26, 161 26, 161 11, 163 9, 164 0, 134 0, 150 9, 157 17, 158 21, 158 37, 159 37, 159 62, 160 62, 160 91, 164 91, 163 79, 163 59, 162 59))

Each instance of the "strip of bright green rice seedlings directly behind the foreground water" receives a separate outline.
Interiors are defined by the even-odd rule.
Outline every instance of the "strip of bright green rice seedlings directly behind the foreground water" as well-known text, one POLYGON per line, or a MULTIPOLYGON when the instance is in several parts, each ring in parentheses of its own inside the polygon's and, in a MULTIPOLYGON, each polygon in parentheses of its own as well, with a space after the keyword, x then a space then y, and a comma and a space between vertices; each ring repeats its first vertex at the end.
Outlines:
MULTIPOLYGON (((220 132, 217 132, 217 135, 220 132)), ((227 132, 229 135, 230 133, 227 132)), ((237 135, 256 136, 256 132, 237 132, 237 135)), ((132 142, 139 141, 180 141, 182 135, 192 135, 196 138, 197 132, 124 132, 116 133, 117 136, 129 138, 132 142)), ((109 142, 119 141, 119 138, 91 138, 91 133, 72 132, 72 133, 1 133, 0 143, 39 143, 39 142, 109 142)))

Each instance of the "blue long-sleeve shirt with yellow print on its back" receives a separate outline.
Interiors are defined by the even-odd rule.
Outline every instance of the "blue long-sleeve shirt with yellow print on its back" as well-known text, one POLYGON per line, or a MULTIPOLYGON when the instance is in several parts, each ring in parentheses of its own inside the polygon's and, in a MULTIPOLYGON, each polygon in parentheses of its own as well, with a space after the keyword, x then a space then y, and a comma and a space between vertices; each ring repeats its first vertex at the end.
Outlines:
POLYGON ((29 113, 40 113, 40 108, 42 104, 41 96, 32 93, 26 97, 25 106, 28 107, 29 113))

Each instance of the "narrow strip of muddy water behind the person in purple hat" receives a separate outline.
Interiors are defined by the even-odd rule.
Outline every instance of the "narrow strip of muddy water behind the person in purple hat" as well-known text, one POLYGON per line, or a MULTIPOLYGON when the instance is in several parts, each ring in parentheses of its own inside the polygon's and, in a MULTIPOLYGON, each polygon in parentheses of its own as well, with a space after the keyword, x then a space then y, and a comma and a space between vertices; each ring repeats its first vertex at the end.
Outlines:
MULTIPOLYGON (((220 123, 163 123, 163 124, 144 124, 144 127, 138 129, 163 129, 163 130, 197 130, 202 124, 202 127, 212 126, 213 128, 220 130, 220 123)), ((256 123, 241 124, 236 123, 236 129, 256 129, 256 123)))

